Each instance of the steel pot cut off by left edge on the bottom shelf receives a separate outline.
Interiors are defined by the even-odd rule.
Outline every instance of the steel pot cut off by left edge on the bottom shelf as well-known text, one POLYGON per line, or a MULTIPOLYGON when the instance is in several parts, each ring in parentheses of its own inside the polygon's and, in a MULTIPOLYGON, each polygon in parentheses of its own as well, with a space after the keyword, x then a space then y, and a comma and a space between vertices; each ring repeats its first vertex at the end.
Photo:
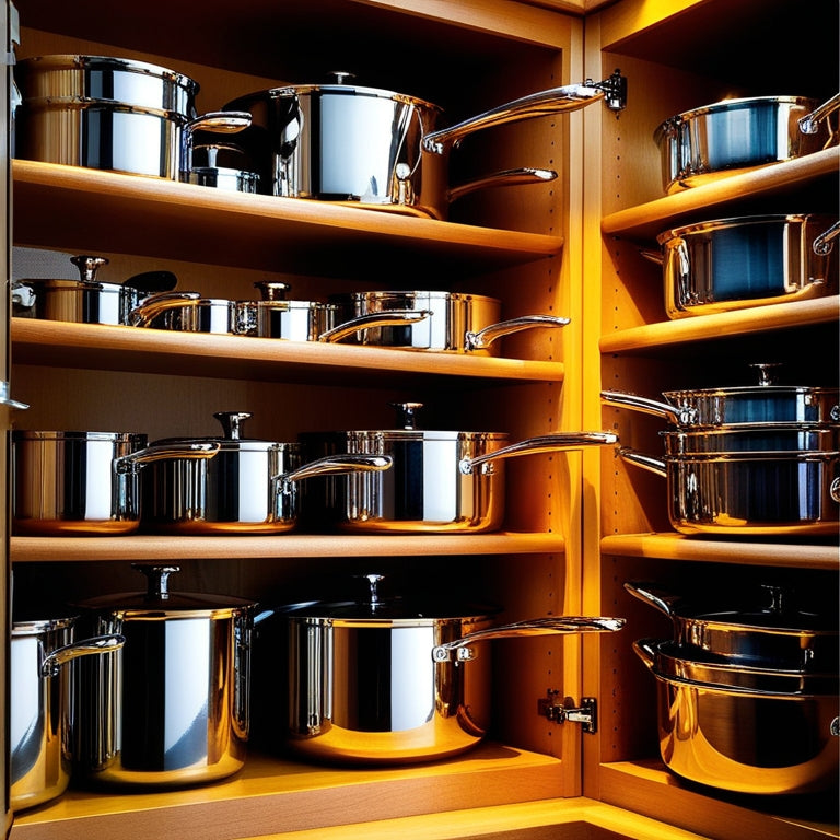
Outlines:
POLYGON ((75 640, 77 617, 15 620, 10 648, 11 805, 31 808, 70 783, 74 660, 122 646, 117 634, 75 640))

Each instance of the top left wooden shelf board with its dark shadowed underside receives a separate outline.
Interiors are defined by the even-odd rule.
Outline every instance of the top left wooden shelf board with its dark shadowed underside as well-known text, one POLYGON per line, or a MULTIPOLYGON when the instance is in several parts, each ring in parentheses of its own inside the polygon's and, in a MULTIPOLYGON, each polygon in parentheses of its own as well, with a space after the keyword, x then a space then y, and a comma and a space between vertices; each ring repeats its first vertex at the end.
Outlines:
POLYGON ((326 201, 36 161, 15 160, 12 172, 15 242, 77 253, 107 242, 115 253, 350 279, 442 266, 447 275, 477 273, 562 250, 559 236, 326 201))

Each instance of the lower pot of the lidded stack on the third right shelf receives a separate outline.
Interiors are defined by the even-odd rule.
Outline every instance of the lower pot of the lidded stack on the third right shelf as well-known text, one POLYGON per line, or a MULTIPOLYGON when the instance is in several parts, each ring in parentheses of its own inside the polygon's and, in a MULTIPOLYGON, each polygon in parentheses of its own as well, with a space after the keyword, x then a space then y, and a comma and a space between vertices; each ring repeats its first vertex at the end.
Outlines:
POLYGON ((667 479, 668 517, 682 534, 837 533, 840 452, 719 452, 655 458, 621 447, 618 454, 667 479))

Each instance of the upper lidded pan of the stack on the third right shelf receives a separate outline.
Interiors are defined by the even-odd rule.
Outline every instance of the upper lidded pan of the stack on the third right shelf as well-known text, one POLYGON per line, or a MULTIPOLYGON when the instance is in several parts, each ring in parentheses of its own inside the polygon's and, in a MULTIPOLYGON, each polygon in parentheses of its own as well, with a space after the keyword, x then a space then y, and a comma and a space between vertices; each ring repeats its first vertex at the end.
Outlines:
POLYGON ((840 422, 840 390, 833 387, 775 385, 772 364, 754 364, 757 385, 666 390, 662 402, 635 394, 603 390, 605 405, 664 417, 685 430, 795 423, 819 427, 840 422))

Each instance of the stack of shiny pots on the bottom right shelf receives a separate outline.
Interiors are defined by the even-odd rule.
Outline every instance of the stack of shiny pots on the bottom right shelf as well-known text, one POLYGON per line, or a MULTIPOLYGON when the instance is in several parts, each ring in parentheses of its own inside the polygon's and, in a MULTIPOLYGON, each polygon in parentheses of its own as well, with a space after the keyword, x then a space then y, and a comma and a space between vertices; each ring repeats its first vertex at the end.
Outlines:
POLYGON ((628 592, 672 619, 674 635, 633 649, 656 678, 660 751, 677 774, 755 794, 837 784, 837 617, 769 603, 692 604, 648 583, 628 592))

